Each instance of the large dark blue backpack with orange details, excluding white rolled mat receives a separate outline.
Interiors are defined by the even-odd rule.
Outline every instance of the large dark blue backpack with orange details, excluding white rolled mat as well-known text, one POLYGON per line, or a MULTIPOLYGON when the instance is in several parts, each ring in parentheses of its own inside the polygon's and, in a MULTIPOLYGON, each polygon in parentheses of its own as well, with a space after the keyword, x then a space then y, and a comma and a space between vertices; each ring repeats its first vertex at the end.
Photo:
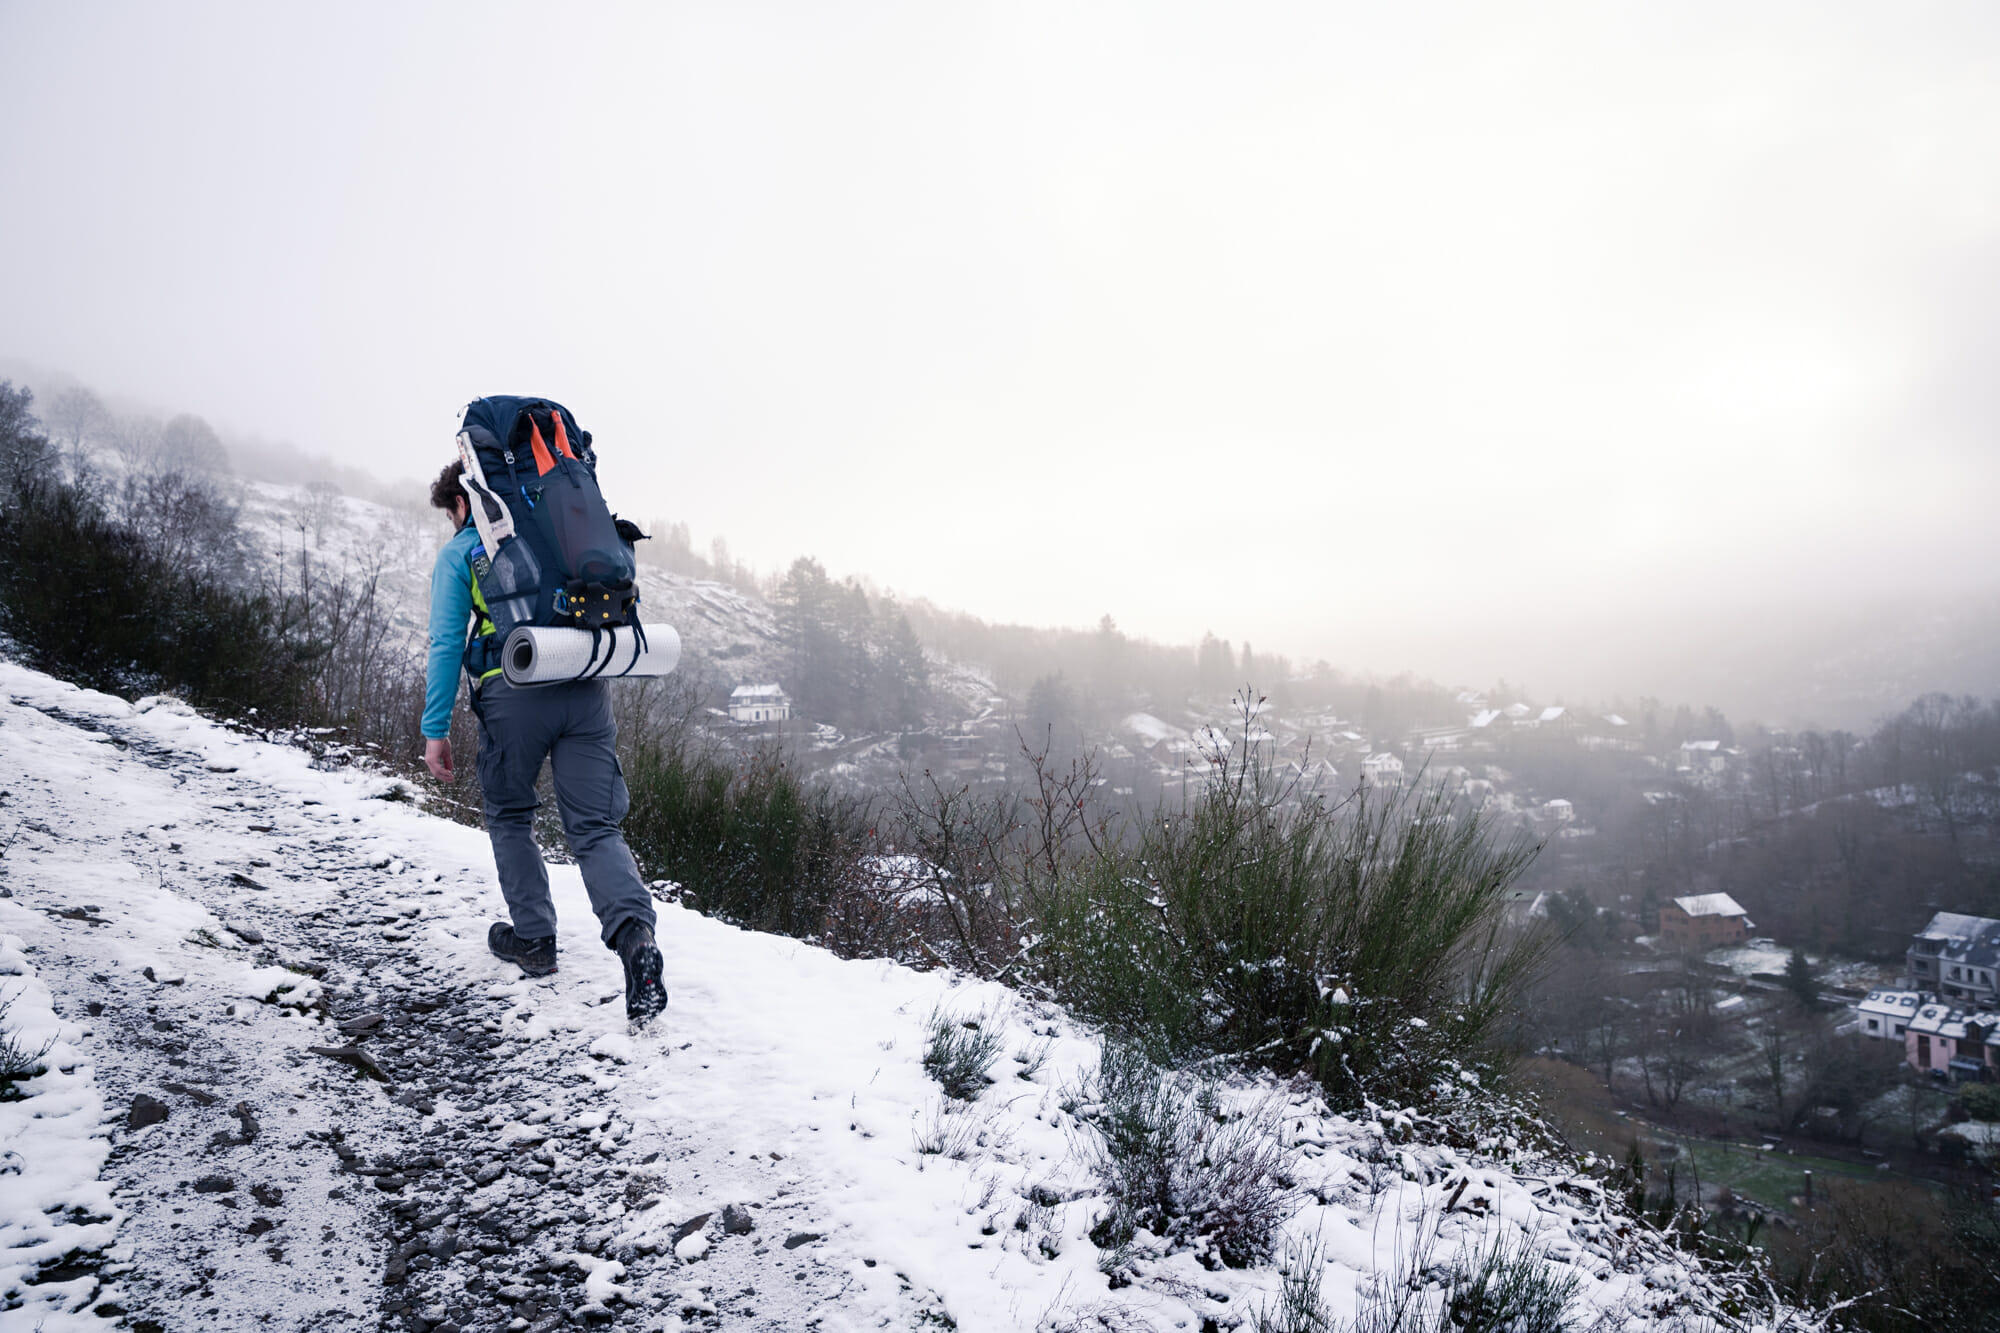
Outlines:
POLYGON ((614 518, 598 490, 590 432, 548 398, 494 396, 466 408, 460 484, 480 542, 472 550, 478 622, 466 671, 500 669, 520 624, 602 630, 638 624, 638 526, 614 518))

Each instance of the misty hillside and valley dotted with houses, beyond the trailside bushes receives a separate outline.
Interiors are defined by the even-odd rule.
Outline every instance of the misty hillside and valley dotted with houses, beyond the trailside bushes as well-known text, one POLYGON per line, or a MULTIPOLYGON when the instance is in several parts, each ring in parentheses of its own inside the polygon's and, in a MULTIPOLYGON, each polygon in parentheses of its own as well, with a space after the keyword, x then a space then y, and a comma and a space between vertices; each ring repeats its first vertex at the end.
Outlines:
MULTIPOLYGON (((432 526, 360 496, 242 486, 264 558, 360 570, 412 644, 424 566, 402 552, 432 526)), ((1160 646, 1110 616, 992 626, 812 560, 724 568, 682 524, 646 526, 646 616, 684 652, 666 683, 626 687, 632 739, 652 727, 776 757, 882 811, 906 779, 1006 799, 1038 765, 1112 819, 1242 773, 1276 807, 1442 789, 1502 843, 1538 847, 1508 929, 1556 943, 1506 1041, 1578 1151, 1636 1155, 1668 1201, 1798 1225, 1814 1179, 1890 1207, 2000 1139, 2000 1107, 1972 1095, 2000 1073, 1990 705, 1910 701, 1882 673, 1872 699, 1900 703, 1870 705, 1872 725, 1776 729, 1700 701, 1358 677, 1212 636, 1160 646)), ((896 899, 934 879, 908 847, 864 865, 896 899)))

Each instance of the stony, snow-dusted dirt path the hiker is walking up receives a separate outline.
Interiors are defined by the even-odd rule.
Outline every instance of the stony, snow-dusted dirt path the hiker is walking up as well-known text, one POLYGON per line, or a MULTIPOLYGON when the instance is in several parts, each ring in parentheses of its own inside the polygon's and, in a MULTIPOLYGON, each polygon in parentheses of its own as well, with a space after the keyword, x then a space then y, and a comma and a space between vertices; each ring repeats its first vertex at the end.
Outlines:
POLYGON ((0 717, 0 929, 94 1065, 122 1213, 112 1249, 42 1269, 82 1293, 58 1305, 134 1329, 942 1319, 828 1243, 796 1153, 660 1113, 716 1053, 680 1013, 626 1033, 574 903, 556 977, 480 961, 476 831, 388 809, 386 781, 244 773, 194 719, 162 739, 162 709, 30 691, 0 717))

